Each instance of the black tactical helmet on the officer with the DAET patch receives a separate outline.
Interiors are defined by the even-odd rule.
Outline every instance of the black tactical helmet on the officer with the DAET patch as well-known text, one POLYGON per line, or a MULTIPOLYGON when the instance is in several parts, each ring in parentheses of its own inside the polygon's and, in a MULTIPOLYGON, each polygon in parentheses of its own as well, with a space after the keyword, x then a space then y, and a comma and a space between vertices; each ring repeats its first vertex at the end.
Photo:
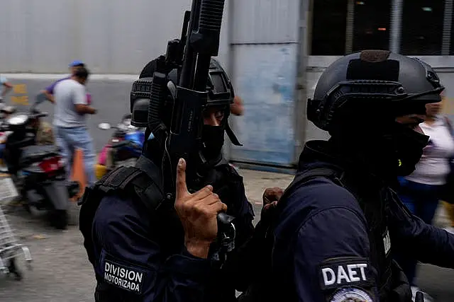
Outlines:
POLYGON ((419 59, 384 50, 348 54, 328 66, 309 99, 307 115, 316 127, 332 132, 358 114, 389 120, 424 114, 426 103, 441 101, 444 87, 435 71, 419 59))

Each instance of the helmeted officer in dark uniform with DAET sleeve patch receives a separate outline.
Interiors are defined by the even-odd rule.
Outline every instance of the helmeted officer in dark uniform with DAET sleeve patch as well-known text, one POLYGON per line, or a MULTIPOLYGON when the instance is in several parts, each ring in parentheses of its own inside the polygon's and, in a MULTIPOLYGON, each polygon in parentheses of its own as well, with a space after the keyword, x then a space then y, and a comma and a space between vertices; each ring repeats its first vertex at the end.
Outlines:
POLYGON ((441 91, 431 66, 388 51, 349 54, 323 72, 307 114, 331 138, 306 144, 277 204, 271 301, 409 302, 397 251, 454 268, 454 236, 392 190, 421 157, 419 123, 441 91))

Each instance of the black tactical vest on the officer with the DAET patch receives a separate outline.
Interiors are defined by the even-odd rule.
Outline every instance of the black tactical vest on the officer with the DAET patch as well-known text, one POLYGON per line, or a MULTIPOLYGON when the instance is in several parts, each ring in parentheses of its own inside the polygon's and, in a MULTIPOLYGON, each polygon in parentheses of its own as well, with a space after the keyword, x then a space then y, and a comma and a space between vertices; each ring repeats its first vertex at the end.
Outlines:
MULTIPOLYGON (((387 236, 387 200, 393 198, 387 190, 375 190, 375 192, 365 192, 361 188, 355 186, 355 182, 345 177, 345 174, 339 170, 334 170, 330 167, 313 168, 301 173, 297 173, 292 183, 287 187, 284 194, 277 204, 275 216, 279 215, 279 211, 286 206, 287 197, 294 193, 299 187, 306 184, 314 178, 328 178, 336 185, 345 187, 358 200, 362 211, 367 220, 367 233, 370 241, 370 262, 378 271, 378 295, 380 302, 411 302, 411 293, 409 292, 409 284, 406 280, 402 269, 392 260, 389 247, 385 247, 384 238, 387 236)), ((294 248, 294 240, 297 237, 297 230, 301 225, 301 221, 306 218, 306 211, 299 211, 298 215, 293 215, 292 219, 286 220, 286 228, 291 231, 284 232, 282 242, 290 243, 287 252, 292 253, 294 248)), ((260 276, 250 284, 246 291, 238 301, 240 302, 275 302, 275 301, 297 301, 297 297, 292 296, 294 289, 291 284, 294 284, 292 277, 288 276, 288 272, 279 271, 280 267, 291 267, 282 265, 282 263, 272 264, 272 251, 275 248, 273 233, 275 225, 273 222, 267 226, 258 226, 256 231, 265 234, 262 240, 263 252, 266 258, 266 264, 259 269, 260 276)), ((389 237, 388 237, 389 238, 389 237)), ((283 260, 284 262, 286 260, 283 260)))

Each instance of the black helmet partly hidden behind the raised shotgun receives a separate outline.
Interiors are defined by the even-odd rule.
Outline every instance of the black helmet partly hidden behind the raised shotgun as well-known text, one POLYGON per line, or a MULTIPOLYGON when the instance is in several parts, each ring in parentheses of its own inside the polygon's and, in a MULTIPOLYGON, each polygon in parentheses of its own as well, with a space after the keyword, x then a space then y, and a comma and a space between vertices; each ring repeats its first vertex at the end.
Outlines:
MULTIPOLYGON (((147 127, 148 126, 148 103, 150 103, 151 97, 151 86, 153 83, 153 73, 156 69, 157 60, 153 60, 147 66, 145 66, 143 72, 140 74, 140 79, 133 83, 131 89, 131 124, 136 127, 147 127)), ((177 70, 173 69, 169 72, 167 79, 175 83, 178 83, 177 70)), ((209 77, 206 83, 206 90, 208 91, 208 102, 206 106, 222 106, 226 108, 233 103, 235 96, 233 92, 233 86, 228 78, 226 71, 221 67, 221 64, 216 59, 211 58, 211 64, 209 68, 209 77)), ((167 104, 163 104, 163 108, 172 105, 172 97, 170 93, 167 97, 167 104)), ((170 112, 172 109, 170 108, 170 112)), ((226 110, 227 116, 230 110, 226 110)), ((226 116, 226 117, 227 117, 226 116)), ((169 127, 170 120, 163 120, 165 125, 169 127)))

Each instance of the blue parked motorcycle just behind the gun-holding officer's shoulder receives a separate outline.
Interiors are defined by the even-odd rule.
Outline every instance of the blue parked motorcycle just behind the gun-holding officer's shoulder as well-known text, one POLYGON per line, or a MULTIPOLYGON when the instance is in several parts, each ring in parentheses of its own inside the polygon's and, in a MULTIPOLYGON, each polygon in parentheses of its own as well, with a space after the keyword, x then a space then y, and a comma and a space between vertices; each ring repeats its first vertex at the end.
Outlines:
POLYGON ((131 115, 124 115, 116 127, 101 123, 99 129, 115 129, 109 142, 98 156, 96 178, 101 179, 106 173, 121 165, 134 165, 142 153, 145 129, 131 125, 131 115))

